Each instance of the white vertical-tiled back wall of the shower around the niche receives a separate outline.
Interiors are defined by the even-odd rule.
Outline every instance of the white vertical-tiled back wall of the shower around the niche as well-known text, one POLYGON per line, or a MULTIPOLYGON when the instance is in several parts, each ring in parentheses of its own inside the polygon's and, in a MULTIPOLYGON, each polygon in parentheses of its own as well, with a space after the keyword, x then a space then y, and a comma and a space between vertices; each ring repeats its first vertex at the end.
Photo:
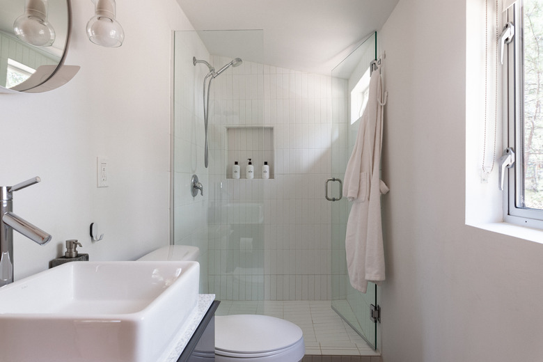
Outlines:
MULTIPOLYGON (((212 56, 216 67, 229 61, 212 56)), ((219 235, 237 239, 211 238, 210 291, 223 299, 330 299, 331 203, 323 189, 331 175, 331 77, 245 61, 214 79, 212 92, 210 123, 223 143, 212 145, 212 169, 219 171, 210 174, 210 184, 225 211, 214 209, 210 223, 219 235), (226 126, 255 125, 273 127, 274 179, 226 179, 232 166, 226 164, 226 126), (248 213, 262 205, 263 219, 240 231, 229 223, 228 203, 242 203, 248 213), (248 239, 251 253, 239 246, 248 239), (243 262, 247 256, 251 261, 243 262)), ((263 161, 255 159, 256 178, 263 161)), ((243 177, 246 160, 239 162, 243 177)))

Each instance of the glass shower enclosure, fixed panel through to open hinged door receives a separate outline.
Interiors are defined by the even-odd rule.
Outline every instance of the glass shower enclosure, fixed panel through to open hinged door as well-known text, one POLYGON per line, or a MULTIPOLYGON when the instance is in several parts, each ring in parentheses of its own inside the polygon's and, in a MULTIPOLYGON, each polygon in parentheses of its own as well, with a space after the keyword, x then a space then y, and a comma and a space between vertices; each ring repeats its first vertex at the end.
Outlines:
POLYGON ((369 79, 375 44, 373 34, 327 77, 265 65, 262 31, 176 31, 171 129, 172 244, 200 248, 200 291, 222 301, 332 299, 333 309, 374 348, 370 305, 377 305, 379 290, 351 288, 350 205, 324 200, 322 180, 345 175, 358 127, 351 118, 365 100, 359 80, 369 79), (236 44, 244 47, 233 52, 236 44), (216 69, 244 60, 212 81, 208 168, 203 79, 210 70, 193 56, 216 69), (249 158, 252 180, 244 176, 249 158), (235 161, 241 179, 233 178, 235 161), (269 179, 260 173, 263 162, 269 179), (203 184, 196 197, 190 194, 194 174, 203 184))

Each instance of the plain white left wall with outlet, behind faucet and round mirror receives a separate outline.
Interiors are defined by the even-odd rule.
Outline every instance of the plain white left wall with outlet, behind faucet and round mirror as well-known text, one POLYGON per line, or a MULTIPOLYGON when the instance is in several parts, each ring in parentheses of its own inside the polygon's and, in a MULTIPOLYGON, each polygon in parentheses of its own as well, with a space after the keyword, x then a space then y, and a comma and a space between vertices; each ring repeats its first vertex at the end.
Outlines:
POLYGON ((79 73, 48 93, 0 95, 0 184, 40 176, 17 191, 14 210, 53 235, 38 246, 15 233, 16 279, 47 269, 65 239, 91 260, 132 260, 169 242, 171 30, 191 24, 173 0, 118 1, 125 43, 107 49, 86 38, 93 3, 72 7, 66 63, 79 73), (103 189, 98 156, 109 159, 103 189), (101 242, 91 243, 91 222, 101 242))

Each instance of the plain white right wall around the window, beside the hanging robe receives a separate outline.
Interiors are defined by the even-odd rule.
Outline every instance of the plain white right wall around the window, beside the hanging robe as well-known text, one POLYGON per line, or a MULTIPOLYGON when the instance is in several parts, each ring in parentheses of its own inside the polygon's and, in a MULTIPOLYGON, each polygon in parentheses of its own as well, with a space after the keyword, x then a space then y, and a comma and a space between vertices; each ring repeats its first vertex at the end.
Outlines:
POLYGON ((465 151, 466 68, 485 56, 466 53, 466 17, 481 2, 401 0, 379 33, 383 361, 543 356, 543 246, 465 225, 466 157, 480 159, 465 151))

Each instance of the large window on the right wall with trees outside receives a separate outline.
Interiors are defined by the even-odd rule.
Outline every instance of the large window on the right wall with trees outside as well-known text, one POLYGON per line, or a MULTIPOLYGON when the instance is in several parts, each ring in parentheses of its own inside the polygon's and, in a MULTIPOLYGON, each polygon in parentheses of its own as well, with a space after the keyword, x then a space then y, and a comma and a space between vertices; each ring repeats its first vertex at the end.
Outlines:
POLYGON ((506 16, 507 26, 514 27, 512 42, 504 46, 503 76, 507 147, 514 163, 500 164, 505 171, 511 166, 503 173, 505 221, 543 228, 543 0, 519 0, 506 16))

